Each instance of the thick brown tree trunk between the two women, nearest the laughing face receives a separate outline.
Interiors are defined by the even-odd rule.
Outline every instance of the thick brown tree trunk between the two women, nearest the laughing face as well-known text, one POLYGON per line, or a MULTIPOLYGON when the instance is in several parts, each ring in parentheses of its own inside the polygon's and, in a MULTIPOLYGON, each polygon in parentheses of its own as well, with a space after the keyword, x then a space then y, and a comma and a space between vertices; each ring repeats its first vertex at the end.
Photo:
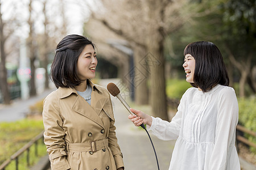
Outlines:
POLYGON ((150 1, 148 3, 148 55, 146 56, 146 61, 150 68, 150 104, 152 114, 168 121, 166 78, 164 73, 164 34, 163 28, 159 24, 159 20, 163 20, 161 11, 160 2, 150 1))

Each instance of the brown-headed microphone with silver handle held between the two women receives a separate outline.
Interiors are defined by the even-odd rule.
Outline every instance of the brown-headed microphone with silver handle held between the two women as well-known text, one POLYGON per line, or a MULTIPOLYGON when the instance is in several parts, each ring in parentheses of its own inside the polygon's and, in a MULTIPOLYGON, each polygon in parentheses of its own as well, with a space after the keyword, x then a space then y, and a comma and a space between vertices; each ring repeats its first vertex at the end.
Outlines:
MULTIPOLYGON (((127 109, 127 111, 132 114, 132 115, 136 115, 135 113, 130 111, 130 106, 126 103, 125 99, 123 99, 123 97, 120 95, 120 90, 117 87, 117 85, 115 85, 114 83, 109 83, 107 86, 108 91, 110 92, 110 94, 114 97, 117 97, 117 99, 119 99, 121 101, 121 103, 123 104, 123 106, 127 109)), ((137 116, 137 115, 136 115, 137 116)), ((141 127, 143 129, 146 129, 144 124, 141 124, 141 127)))

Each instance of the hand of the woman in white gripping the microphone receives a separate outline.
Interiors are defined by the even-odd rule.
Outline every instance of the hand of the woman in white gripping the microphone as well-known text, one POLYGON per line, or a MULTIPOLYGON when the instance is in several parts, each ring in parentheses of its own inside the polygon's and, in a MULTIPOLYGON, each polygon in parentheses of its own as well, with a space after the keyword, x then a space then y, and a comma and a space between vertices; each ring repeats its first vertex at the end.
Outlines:
POLYGON ((136 109, 133 109, 133 108, 130 108, 131 112, 133 112, 134 114, 136 115, 129 115, 128 118, 133 122, 133 124, 135 126, 140 126, 141 124, 146 124, 148 126, 151 126, 152 124, 152 117, 149 116, 148 114, 142 112, 142 111, 139 111, 139 110, 136 110, 136 109))

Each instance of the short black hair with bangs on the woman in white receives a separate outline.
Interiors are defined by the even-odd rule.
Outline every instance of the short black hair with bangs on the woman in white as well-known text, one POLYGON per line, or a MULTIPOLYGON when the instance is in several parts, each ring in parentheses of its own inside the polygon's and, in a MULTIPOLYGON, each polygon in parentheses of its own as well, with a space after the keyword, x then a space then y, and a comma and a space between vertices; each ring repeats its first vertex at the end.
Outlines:
POLYGON ((211 90, 217 84, 229 85, 228 71, 220 50, 212 42, 192 42, 184 49, 184 56, 191 54, 195 58, 195 73, 191 85, 203 92, 211 90))

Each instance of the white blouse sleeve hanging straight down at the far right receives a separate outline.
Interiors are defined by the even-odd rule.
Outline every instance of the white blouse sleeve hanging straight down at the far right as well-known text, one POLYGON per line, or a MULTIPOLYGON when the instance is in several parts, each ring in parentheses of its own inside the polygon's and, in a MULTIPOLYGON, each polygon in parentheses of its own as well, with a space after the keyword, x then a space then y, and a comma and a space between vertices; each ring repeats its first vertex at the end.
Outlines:
POLYGON ((234 145, 238 122, 238 102, 233 88, 224 88, 218 99, 214 148, 209 169, 226 169, 229 147, 234 145))

